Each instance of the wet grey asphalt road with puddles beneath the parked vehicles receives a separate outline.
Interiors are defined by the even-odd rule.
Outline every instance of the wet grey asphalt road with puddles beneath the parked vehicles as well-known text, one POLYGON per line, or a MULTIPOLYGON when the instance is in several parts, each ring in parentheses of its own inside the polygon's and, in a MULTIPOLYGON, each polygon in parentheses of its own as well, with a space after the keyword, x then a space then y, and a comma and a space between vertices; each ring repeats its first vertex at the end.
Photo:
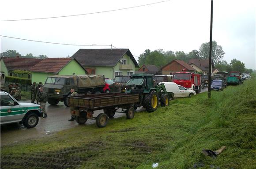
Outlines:
MULTIPOLYGON (((207 86, 201 90, 201 92, 208 91, 207 86)), ((24 101, 30 102, 30 101, 24 101)), ((120 110, 118 110, 120 111, 120 110)), ((38 125, 35 128, 27 129, 22 124, 5 124, 1 126, 1 143, 0 145, 7 145, 11 143, 18 143, 26 139, 35 139, 51 135, 57 131, 62 131, 69 128, 74 128, 79 124, 76 121, 68 121, 70 119, 70 108, 66 107, 63 102, 57 105, 49 105, 46 103, 46 112, 48 117, 39 117, 38 125), (46 134, 46 131, 50 131, 51 134, 46 134)), ((103 110, 94 111, 94 117, 99 113, 103 113, 103 110)), ((114 118, 126 116, 124 113, 116 113, 114 118)), ((95 120, 88 119, 86 125, 95 124, 95 120)))

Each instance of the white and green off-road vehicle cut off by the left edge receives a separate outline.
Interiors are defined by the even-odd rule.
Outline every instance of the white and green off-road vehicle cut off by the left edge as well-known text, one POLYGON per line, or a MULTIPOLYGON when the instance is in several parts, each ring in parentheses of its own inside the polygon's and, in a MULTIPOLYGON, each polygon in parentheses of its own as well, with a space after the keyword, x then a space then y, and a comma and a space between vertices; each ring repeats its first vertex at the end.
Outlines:
POLYGON ((40 105, 16 101, 7 92, 0 92, 1 124, 22 123, 26 128, 34 128, 38 124, 38 117, 42 117, 40 105))

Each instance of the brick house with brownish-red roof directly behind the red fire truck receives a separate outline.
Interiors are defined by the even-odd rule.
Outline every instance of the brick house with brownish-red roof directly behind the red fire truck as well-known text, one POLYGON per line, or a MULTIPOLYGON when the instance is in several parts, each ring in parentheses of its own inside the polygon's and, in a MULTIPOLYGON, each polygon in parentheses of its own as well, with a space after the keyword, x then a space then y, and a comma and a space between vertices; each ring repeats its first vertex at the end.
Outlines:
POLYGON ((196 71, 196 69, 189 66, 183 60, 173 60, 160 68, 162 75, 171 75, 175 72, 182 72, 183 69, 187 69, 188 72, 196 71))

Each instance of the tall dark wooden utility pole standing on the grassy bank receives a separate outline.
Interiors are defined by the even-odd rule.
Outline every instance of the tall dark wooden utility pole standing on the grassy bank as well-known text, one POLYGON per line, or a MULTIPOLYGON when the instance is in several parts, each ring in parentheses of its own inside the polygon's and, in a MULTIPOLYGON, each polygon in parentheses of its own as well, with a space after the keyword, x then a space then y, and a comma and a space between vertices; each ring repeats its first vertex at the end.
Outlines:
POLYGON ((212 51, 212 8, 213 0, 211 0, 211 28, 210 28, 210 53, 209 53, 209 69, 208 69, 208 98, 211 98, 211 51, 212 51))

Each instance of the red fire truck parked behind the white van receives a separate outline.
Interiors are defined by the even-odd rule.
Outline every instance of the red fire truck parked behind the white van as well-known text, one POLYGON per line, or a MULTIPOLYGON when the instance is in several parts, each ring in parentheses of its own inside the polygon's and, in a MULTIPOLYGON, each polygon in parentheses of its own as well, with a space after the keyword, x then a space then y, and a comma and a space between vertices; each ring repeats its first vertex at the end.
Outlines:
POLYGON ((184 72, 177 72, 173 74, 173 82, 184 86, 189 90, 195 90, 196 93, 201 91, 201 75, 197 73, 186 72, 186 69, 183 69, 184 72))

